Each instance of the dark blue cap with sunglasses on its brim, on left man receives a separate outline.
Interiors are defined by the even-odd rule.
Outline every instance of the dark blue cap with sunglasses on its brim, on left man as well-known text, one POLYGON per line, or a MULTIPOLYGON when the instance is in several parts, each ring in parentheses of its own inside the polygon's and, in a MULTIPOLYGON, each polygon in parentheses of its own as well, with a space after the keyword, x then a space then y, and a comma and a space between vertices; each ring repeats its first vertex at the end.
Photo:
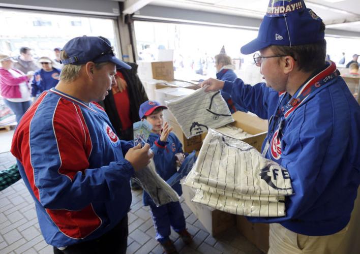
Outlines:
POLYGON ((115 57, 114 48, 104 37, 82 36, 68 41, 63 50, 68 59, 61 59, 64 65, 84 65, 86 62, 113 62, 116 69, 131 69, 127 63, 115 57))

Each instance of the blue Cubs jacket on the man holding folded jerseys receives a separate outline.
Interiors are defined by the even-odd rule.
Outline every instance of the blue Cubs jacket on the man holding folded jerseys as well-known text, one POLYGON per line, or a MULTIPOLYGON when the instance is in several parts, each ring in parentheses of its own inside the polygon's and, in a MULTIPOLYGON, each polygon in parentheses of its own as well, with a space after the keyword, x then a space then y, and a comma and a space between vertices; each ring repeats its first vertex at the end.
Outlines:
POLYGON ((335 63, 327 63, 293 98, 265 83, 225 82, 236 103, 268 119, 262 150, 288 170, 294 192, 286 197, 286 216, 250 221, 309 236, 348 224, 360 183, 360 106, 338 75, 335 63))

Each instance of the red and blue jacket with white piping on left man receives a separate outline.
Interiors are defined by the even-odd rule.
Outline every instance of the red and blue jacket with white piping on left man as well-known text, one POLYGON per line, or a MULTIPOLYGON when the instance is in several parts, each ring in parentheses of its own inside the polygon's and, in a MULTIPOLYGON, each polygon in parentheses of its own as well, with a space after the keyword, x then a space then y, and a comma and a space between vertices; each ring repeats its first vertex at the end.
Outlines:
POLYGON ((48 244, 99 238, 127 215, 134 169, 104 110, 55 89, 26 111, 11 152, 48 244))

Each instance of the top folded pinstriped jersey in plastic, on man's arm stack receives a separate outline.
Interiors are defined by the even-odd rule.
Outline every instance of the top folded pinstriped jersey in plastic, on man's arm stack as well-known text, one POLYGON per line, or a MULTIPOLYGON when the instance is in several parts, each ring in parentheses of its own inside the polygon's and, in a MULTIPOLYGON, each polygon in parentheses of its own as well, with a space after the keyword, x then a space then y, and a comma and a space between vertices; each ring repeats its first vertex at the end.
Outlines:
POLYGON ((209 129, 192 169, 195 182, 255 196, 292 194, 288 171, 249 144, 209 129))

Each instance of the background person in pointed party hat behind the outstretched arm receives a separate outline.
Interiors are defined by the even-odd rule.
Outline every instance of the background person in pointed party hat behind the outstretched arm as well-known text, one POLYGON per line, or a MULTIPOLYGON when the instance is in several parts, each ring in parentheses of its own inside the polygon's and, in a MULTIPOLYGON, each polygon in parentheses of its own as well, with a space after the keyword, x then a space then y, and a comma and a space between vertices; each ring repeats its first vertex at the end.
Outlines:
MULTIPOLYGON (((237 78, 234 72, 235 67, 232 64, 231 57, 226 54, 224 46, 221 48, 220 53, 215 56, 215 68, 217 72, 217 79, 233 82, 237 78)), ((243 107, 232 101, 229 93, 224 92, 223 90, 220 90, 220 92, 231 113, 234 113, 237 110, 247 112, 247 110, 245 110, 243 107)))

